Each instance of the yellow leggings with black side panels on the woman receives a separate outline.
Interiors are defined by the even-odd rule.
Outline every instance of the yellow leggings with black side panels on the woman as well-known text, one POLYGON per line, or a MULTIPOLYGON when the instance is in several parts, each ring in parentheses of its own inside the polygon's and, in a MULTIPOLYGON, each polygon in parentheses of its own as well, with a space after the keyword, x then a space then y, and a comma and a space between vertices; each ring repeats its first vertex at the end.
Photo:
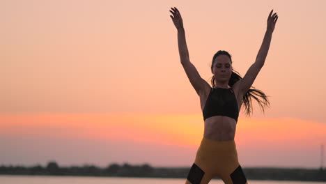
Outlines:
POLYGON ((203 137, 186 184, 206 184, 215 176, 226 184, 247 184, 238 161, 235 141, 216 141, 203 137))

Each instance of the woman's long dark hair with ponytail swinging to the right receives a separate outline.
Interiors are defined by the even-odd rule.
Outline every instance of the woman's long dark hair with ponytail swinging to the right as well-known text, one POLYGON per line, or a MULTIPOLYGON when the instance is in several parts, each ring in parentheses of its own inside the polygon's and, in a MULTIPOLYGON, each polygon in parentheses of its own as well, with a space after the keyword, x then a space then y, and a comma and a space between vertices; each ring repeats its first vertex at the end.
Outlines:
MULTIPOLYGON (((210 69, 212 70, 213 68, 213 64, 215 59, 217 58, 217 56, 219 55, 226 55, 228 56, 228 58, 230 59, 231 63, 232 63, 232 59, 231 59, 231 55, 228 54, 228 52, 226 52, 225 50, 219 50, 212 59, 212 66, 210 66, 210 69)), ((228 81, 228 86, 232 87, 233 84, 235 84, 235 82, 238 82, 240 79, 242 79, 242 77, 240 76, 240 74, 233 70, 232 68, 232 74, 230 77, 230 80, 228 81)), ((211 83, 212 83, 212 87, 214 88, 215 86, 215 77, 214 75, 212 76, 211 79, 211 83)), ((269 107, 270 102, 267 99, 267 96, 265 95, 265 93, 263 93, 263 91, 255 89, 254 86, 251 86, 251 89, 249 89, 249 91, 243 95, 243 103, 244 103, 244 107, 245 107, 245 112, 246 115, 249 116, 252 113, 252 102, 251 102, 251 98, 254 98, 255 100, 257 100, 258 104, 260 105, 261 109, 263 110, 263 112, 265 112, 265 106, 269 107), (263 100, 257 98, 260 97, 263 100)))

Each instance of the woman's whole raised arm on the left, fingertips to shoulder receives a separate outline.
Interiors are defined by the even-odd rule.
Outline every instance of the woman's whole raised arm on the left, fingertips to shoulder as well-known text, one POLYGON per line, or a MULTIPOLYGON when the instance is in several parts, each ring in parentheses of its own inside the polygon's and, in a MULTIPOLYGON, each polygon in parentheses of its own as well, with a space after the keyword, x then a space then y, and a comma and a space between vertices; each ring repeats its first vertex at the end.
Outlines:
POLYGON ((196 93, 198 95, 201 95, 205 91, 205 87, 210 88, 210 85, 204 79, 201 78, 195 66, 190 62, 187 43, 185 40, 185 29, 183 27, 183 19, 180 15, 179 10, 176 7, 171 9, 173 11, 170 10, 170 12, 173 14, 174 17, 172 17, 172 15, 170 15, 170 17, 174 25, 176 26, 176 29, 178 30, 178 48, 181 64, 185 69, 190 83, 196 90, 196 93))

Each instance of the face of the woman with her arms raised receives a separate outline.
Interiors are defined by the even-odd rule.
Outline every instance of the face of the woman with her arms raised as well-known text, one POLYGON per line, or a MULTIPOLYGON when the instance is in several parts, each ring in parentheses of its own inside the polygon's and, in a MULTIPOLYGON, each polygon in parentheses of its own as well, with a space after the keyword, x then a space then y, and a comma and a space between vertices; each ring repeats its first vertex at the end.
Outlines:
POLYGON ((212 72, 216 81, 228 82, 232 74, 232 63, 228 56, 217 56, 213 63, 212 72))

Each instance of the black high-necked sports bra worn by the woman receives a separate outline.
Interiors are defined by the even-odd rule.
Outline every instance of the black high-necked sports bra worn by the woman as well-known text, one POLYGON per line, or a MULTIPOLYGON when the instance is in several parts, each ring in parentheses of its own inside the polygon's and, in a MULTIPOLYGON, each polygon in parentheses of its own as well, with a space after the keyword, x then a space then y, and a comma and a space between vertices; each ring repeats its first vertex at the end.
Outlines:
POLYGON ((203 119, 212 116, 228 116, 238 122, 238 102, 233 90, 212 88, 203 109, 203 119))

